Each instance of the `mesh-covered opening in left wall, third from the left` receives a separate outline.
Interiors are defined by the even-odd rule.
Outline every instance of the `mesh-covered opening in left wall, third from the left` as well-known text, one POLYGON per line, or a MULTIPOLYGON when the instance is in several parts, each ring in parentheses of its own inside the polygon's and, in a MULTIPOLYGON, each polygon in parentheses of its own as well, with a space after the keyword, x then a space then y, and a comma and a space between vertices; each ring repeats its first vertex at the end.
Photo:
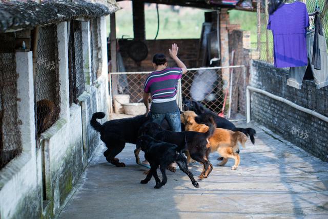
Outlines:
POLYGON ((69 91, 70 105, 77 104, 77 97, 85 91, 85 75, 83 70, 81 22, 70 23, 69 50, 69 91))

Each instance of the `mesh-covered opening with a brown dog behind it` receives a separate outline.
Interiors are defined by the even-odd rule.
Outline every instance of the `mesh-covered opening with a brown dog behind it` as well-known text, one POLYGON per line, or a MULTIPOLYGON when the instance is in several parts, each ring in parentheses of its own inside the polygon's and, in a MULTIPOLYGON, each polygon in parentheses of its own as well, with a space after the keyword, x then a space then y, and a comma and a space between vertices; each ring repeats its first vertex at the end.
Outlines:
POLYGON ((56 25, 38 29, 35 102, 36 133, 39 135, 57 121, 60 113, 56 25))

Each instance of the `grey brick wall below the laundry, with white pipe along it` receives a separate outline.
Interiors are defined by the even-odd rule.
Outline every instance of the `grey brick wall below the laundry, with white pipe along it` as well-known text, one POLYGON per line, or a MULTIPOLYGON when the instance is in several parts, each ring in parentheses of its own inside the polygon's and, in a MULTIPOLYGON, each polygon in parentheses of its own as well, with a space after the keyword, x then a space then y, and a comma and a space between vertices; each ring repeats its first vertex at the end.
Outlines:
MULTIPOLYGON (((251 63, 251 86, 328 115, 328 87, 316 89, 313 81, 303 81, 302 89, 298 90, 286 85, 287 78, 288 69, 261 61, 251 63)), ((328 161, 328 123, 256 92, 252 92, 251 116, 255 122, 328 161)))

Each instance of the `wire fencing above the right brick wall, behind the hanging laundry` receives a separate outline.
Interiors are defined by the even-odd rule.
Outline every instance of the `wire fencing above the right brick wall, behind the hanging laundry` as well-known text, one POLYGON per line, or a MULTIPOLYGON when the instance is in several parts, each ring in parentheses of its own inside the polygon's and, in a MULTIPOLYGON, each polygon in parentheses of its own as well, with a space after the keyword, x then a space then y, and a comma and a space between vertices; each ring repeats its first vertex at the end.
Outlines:
MULTIPOLYGON (((308 13, 315 11, 316 4, 320 7, 321 11, 321 23, 325 32, 325 37, 328 45, 328 1, 326 0, 298 0, 306 4, 308 13)), ((260 53, 260 59, 269 63, 274 62, 273 56, 273 35, 271 30, 267 30, 269 9, 268 0, 262 0, 260 4, 260 28, 258 29, 258 35, 260 43, 258 43, 258 50, 260 53)), ((310 29, 314 28, 314 16, 310 16, 310 29)))

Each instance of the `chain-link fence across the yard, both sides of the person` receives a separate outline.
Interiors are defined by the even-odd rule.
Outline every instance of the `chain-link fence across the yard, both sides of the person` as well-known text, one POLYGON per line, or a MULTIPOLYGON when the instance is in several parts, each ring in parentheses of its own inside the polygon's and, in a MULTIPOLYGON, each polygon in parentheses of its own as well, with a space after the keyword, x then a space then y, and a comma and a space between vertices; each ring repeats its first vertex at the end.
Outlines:
MULTIPOLYGON (((144 84, 150 72, 110 73, 111 118, 144 114, 144 84)), ((178 83, 177 102, 192 99, 225 117, 245 115, 245 67, 209 67, 189 69, 178 83), (222 76, 222 68, 230 74, 222 76)))

